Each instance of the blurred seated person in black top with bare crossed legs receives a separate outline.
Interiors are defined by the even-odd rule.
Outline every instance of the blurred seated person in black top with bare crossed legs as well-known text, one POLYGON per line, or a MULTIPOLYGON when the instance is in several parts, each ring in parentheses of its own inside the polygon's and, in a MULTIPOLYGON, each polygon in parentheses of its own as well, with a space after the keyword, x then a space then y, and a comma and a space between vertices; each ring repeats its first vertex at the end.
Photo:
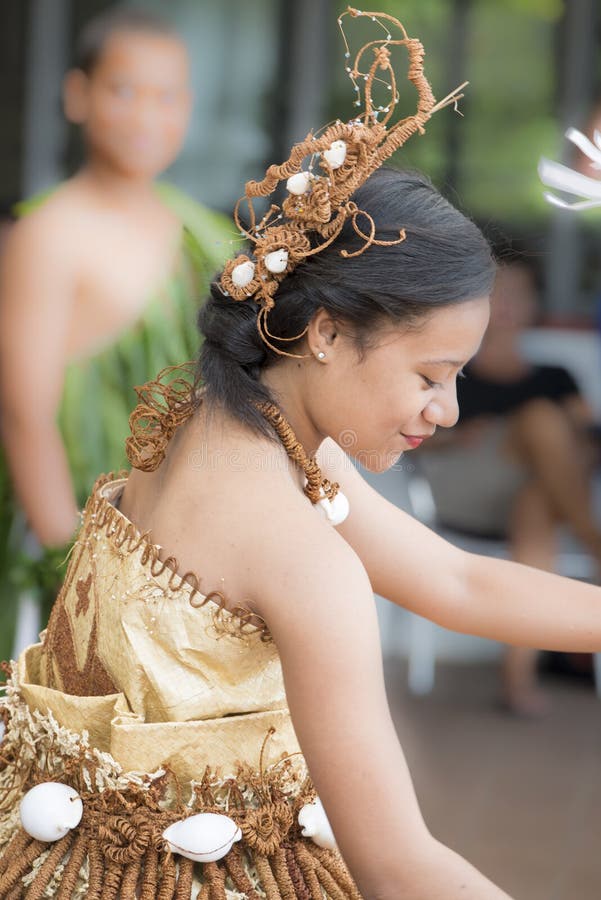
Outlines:
MULTIPOLYGON (((565 369, 532 365, 520 347, 537 312, 533 272, 499 267, 482 346, 458 382, 460 418, 419 453, 441 526, 506 540, 516 562, 552 571, 565 524, 601 563, 591 501, 592 412, 565 369)), ((544 597, 540 598, 544 603, 544 597)), ((508 647, 502 703, 518 715, 546 712, 537 651, 508 647)))

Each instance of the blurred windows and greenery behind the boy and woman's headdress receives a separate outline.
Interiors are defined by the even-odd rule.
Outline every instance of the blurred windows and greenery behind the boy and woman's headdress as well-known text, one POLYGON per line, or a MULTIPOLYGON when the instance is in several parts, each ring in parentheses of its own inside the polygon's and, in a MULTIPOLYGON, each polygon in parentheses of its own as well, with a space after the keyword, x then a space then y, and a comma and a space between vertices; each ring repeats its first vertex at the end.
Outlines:
MULTIPOLYGON (((74 38, 110 0, 0 5, 0 211, 72 172, 80 148, 60 84, 74 38)), ((333 0, 138 0, 173 21, 193 59, 193 126, 168 177, 230 211, 242 183, 290 143, 352 114, 333 0)), ((426 47, 436 96, 469 80, 461 103, 393 160, 425 170, 495 243, 519 241, 540 264, 547 317, 592 321, 601 297, 597 213, 546 206, 539 156, 569 162, 565 127, 584 127, 601 98, 598 0, 379 0, 426 47)), ((348 20, 347 20, 348 21, 348 20)), ((361 39, 361 24, 353 24, 361 39)), ((401 85, 404 96, 412 89, 401 85)))

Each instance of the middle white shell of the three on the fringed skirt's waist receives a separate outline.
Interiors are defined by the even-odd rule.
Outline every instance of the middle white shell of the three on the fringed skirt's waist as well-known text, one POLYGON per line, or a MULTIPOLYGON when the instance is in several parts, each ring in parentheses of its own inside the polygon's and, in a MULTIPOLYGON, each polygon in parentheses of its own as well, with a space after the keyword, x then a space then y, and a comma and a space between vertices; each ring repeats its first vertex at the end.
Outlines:
POLYGON ((242 832, 233 819, 218 813, 198 813, 174 822, 163 832, 173 853, 194 862, 216 862, 239 841, 242 832))

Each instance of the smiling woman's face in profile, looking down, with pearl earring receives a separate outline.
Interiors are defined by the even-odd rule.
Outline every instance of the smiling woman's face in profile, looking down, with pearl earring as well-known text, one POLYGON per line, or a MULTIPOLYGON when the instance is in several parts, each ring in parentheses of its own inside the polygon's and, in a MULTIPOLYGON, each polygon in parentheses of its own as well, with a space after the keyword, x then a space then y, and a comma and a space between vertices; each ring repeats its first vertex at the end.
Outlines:
POLYGON ((384 330, 359 361, 351 339, 337 335, 315 372, 318 429, 380 472, 438 426, 450 428, 459 415, 456 380, 480 345, 489 311, 488 297, 443 307, 416 331, 384 330))

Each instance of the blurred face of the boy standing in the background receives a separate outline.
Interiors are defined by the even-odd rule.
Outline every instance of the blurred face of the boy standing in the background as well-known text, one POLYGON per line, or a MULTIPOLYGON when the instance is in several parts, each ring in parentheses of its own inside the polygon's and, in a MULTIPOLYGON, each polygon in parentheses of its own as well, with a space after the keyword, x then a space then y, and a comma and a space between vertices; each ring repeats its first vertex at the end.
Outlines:
POLYGON ((173 162, 190 116, 188 57, 169 35, 112 35, 84 85, 90 152, 123 174, 153 178, 173 162))

